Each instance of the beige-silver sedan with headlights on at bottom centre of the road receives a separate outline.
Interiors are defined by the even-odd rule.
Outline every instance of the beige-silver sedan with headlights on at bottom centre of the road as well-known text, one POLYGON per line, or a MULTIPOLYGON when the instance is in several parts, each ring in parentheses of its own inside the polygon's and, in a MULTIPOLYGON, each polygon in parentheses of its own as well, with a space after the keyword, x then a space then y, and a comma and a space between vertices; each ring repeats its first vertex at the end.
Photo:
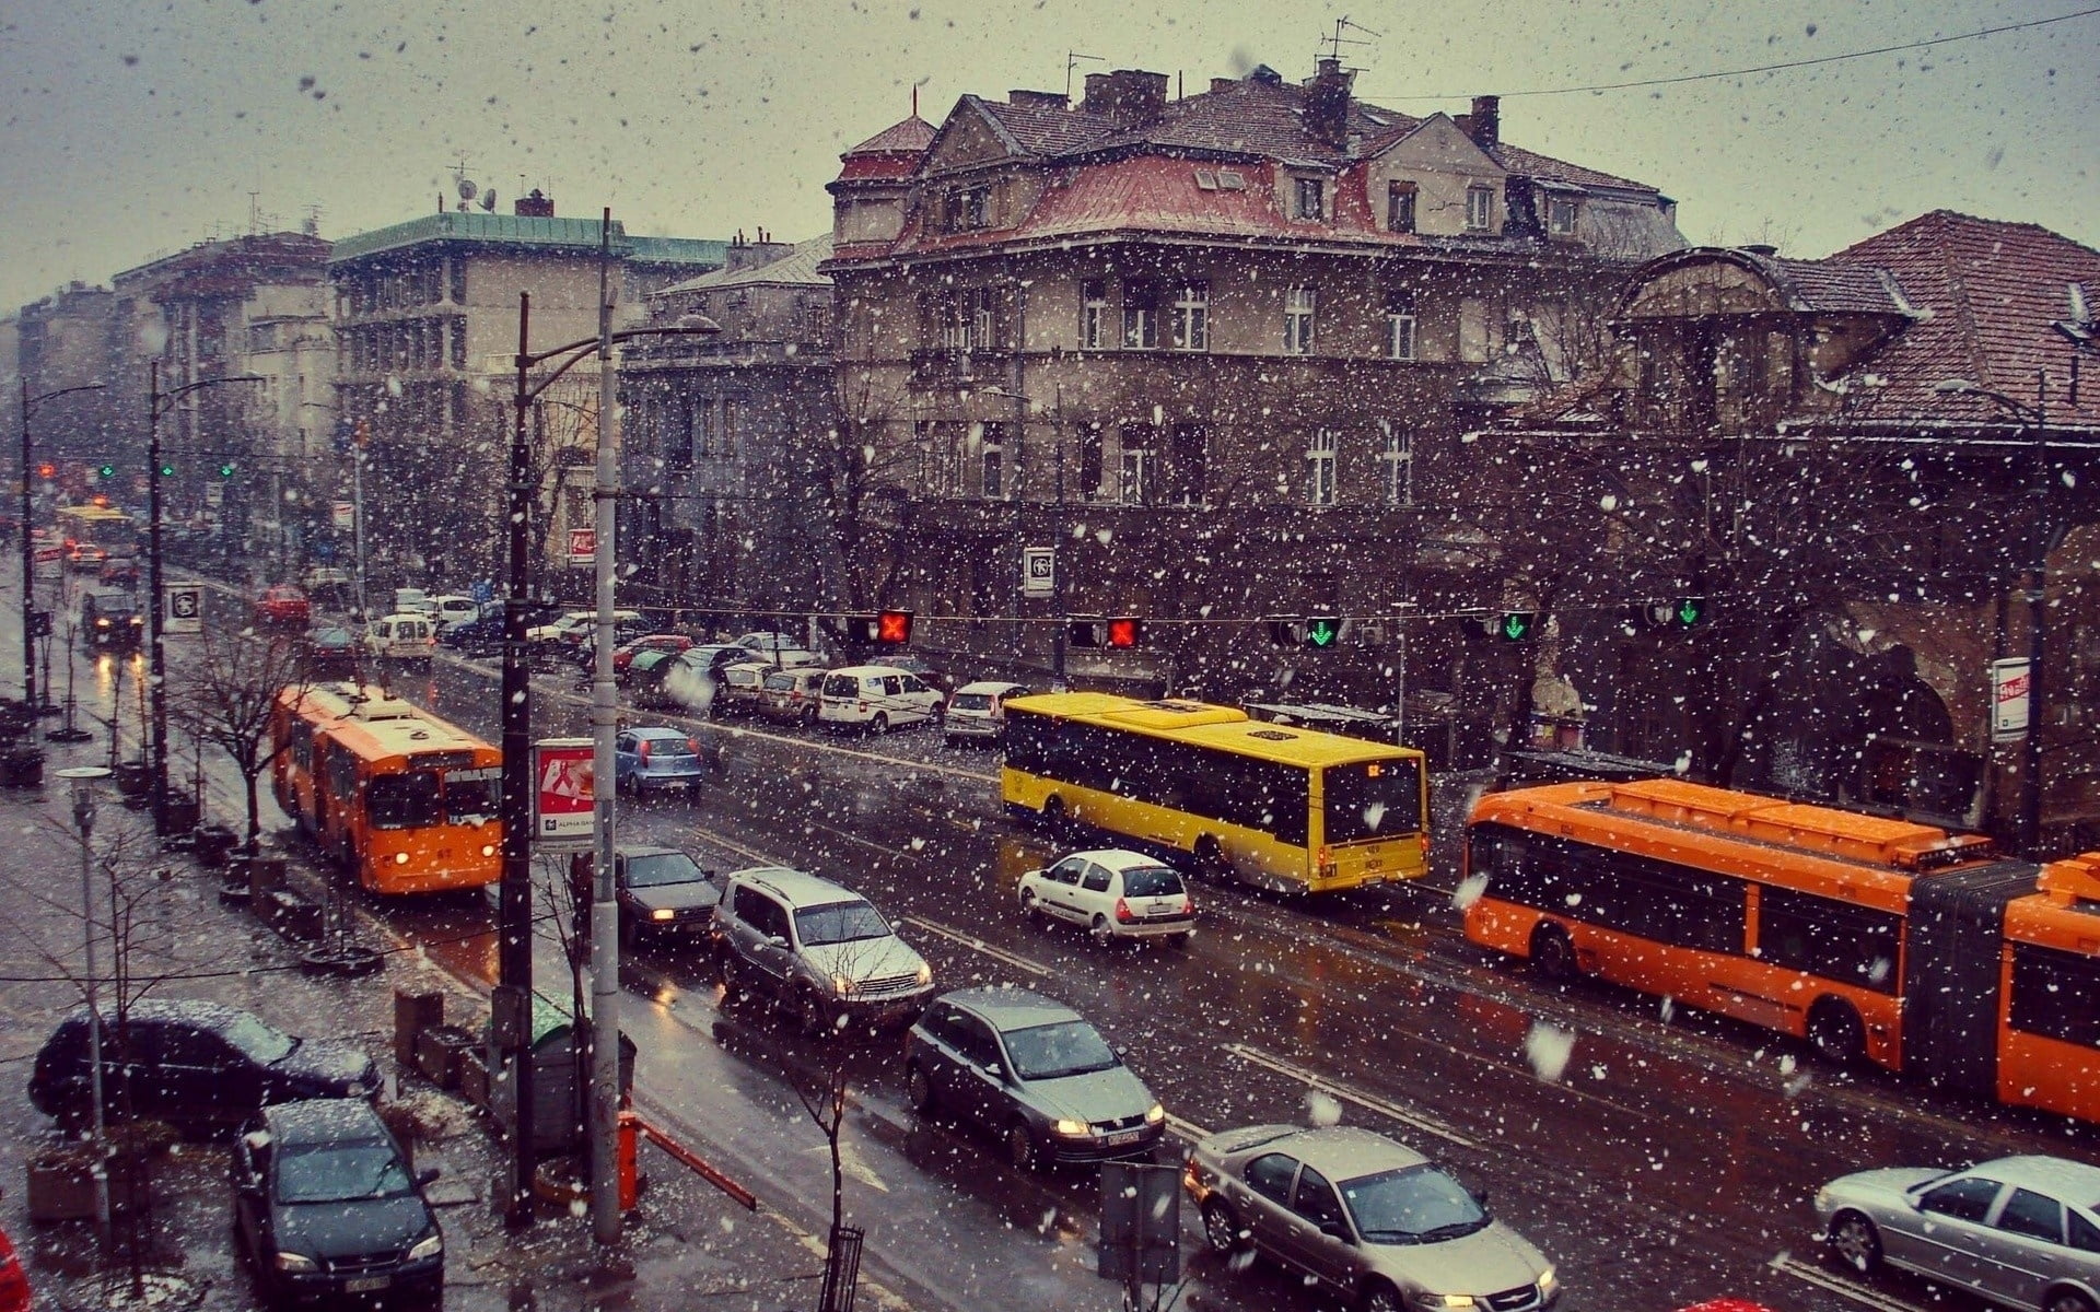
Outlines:
POLYGON ((1560 1276, 1483 1197, 1354 1125, 1250 1125, 1195 1142, 1182 1188, 1218 1255, 1256 1249, 1365 1312, 1541 1312, 1560 1276))

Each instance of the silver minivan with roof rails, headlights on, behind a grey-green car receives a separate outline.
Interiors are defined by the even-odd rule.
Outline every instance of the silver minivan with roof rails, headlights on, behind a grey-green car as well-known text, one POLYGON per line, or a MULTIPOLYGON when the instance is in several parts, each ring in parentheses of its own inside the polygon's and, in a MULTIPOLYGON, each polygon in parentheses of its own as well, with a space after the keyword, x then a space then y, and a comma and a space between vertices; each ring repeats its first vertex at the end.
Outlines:
POLYGON ((806 1033, 909 1020, 932 993, 926 957, 861 894, 806 871, 733 871, 714 911, 731 997, 766 995, 806 1033))

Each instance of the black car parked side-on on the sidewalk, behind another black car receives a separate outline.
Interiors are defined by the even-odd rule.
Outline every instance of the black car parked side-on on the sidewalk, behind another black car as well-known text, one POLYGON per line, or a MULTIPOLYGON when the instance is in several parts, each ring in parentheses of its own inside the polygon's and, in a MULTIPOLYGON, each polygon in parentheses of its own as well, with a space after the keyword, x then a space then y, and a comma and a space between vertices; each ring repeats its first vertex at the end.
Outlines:
MULTIPOLYGON (((239 1125, 294 1098, 372 1098, 380 1073, 359 1048, 296 1039, 252 1012, 191 999, 134 1001, 118 1024, 103 1012, 103 1106, 185 1129, 239 1125)), ((29 1075, 29 1102, 61 1123, 94 1115, 88 1010, 59 1022, 29 1075)))

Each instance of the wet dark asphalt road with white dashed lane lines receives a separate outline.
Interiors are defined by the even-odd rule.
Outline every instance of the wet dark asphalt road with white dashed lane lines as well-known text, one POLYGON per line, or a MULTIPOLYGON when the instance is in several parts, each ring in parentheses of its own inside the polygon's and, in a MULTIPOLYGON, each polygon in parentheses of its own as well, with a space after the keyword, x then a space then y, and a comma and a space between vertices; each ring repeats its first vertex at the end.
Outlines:
MULTIPOLYGON (((395 686, 494 737, 491 668, 441 661, 395 686)), ((584 697, 540 686, 536 735, 584 733, 584 697)), ((1096 947, 1016 913, 1014 880, 1054 848, 1002 817, 995 756, 951 752, 932 733, 691 728, 716 762, 704 798, 624 808, 624 842, 678 844, 716 867, 800 865, 861 888, 903 922, 943 985, 1016 982, 1094 1018, 1130 1048, 1182 1136, 1298 1121, 1317 1087, 1344 1121, 1485 1186, 1558 1262, 1571 1310, 1670 1310, 1722 1293, 1781 1312, 1970 1308, 1922 1283, 1838 1272, 1810 1239, 1808 1194, 1867 1165, 2100 1159, 2085 1127, 1831 1075, 1791 1043, 1655 999, 1539 987, 1462 940, 1449 863, 1422 886, 1319 903, 1199 888, 1205 919, 1191 949, 1096 947)), ((456 940, 433 949, 454 970, 489 974, 483 907, 384 915, 397 932, 456 940)), ((563 991, 546 934, 540 987, 563 991)), ((624 982, 645 1104, 701 1127, 724 1144, 731 1173, 821 1228, 823 1138, 790 1077, 823 1045, 724 1012, 708 972, 676 947, 636 953, 624 982)), ((1018 1178, 989 1140, 920 1125, 897 1056, 895 1039, 846 1056, 848 1213, 867 1226, 869 1251, 907 1293, 956 1308, 1113 1308, 1113 1289, 1092 1276, 1092 1180, 1018 1178)), ((1184 1239, 1189 1308, 1329 1306, 1266 1264, 1222 1270, 1193 1226, 1184 1239)))

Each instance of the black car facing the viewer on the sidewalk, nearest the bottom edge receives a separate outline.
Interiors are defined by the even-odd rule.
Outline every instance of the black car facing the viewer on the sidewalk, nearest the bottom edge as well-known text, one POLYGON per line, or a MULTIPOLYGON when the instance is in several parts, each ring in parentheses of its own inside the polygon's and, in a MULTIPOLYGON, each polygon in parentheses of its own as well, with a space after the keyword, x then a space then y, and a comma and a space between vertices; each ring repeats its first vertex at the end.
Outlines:
POLYGON ((262 1302, 435 1302, 445 1234, 401 1144, 372 1104, 317 1098, 267 1106, 233 1142, 233 1232, 262 1302))

